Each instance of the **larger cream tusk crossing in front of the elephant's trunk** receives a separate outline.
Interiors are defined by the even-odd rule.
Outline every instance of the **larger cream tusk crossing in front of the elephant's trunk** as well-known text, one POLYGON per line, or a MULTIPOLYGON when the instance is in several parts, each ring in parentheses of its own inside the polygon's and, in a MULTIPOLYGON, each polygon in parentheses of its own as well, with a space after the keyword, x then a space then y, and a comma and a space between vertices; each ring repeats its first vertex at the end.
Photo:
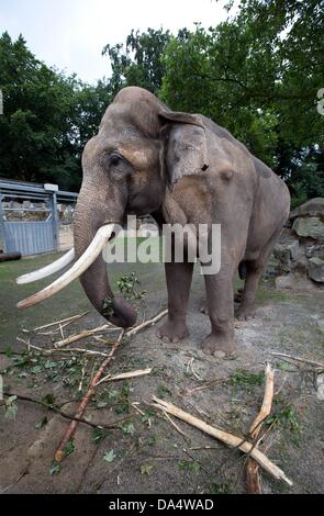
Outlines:
POLYGON ((37 304, 41 301, 44 301, 56 294, 71 281, 81 276, 98 258, 104 245, 110 240, 113 234, 113 229, 114 224, 107 224, 105 226, 100 227, 89 247, 69 270, 67 270, 63 276, 57 278, 57 280, 55 280, 45 289, 18 303, 16 307, 27 309, 29 306, 33 306, 34 304, 37 304))

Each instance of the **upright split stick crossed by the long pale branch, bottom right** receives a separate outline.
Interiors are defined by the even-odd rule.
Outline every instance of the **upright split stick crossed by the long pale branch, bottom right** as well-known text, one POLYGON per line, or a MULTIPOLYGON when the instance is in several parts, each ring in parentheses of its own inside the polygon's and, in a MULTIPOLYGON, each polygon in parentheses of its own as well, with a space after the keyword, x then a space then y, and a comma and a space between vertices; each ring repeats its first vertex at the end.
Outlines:
MULTIPOLYGON (((254 419, 253 424, 250 425, 248 436, 253 441, 256 441, 258 435, 261 429, 261 425, 265 419, 269 416, 272 406, 273 400, 273 377, 275 372, 271 369, 270 364, 267 363, 266 370, 266 389, 262 405, 260 412, 258 413, 257 417, 254 419)), ((262 486, 261 486, 261 479, 259 474, 259 464, 256 462, 255 459, 248 457, 246 462, 246 491, 248 494, 262 494, 262 486)))

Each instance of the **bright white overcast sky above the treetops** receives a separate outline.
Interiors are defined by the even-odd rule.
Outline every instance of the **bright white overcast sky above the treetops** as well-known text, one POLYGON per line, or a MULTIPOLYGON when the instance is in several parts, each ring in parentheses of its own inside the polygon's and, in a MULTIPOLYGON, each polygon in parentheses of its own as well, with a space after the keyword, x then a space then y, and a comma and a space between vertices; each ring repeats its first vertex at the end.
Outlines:
POLYGON ((20 33, 48 66, 93 83, 110 76, 101 51, 122 43, 132 29, 215 26, 226 19, 224 0, 0 0, 0 34, 20 33))

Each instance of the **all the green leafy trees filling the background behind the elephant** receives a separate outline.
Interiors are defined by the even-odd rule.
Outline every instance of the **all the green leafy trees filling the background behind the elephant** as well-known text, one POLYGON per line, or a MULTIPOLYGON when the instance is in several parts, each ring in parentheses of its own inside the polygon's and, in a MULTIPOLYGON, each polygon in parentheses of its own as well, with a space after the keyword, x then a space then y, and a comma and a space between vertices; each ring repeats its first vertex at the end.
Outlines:
POLYGON ((216 26, 177 35, 133 30, 124 43, 105 45, 112 74, 93 86, 47 67, 22 36, 12 41, 4 32, 0 177, 77 190, 82 148, 105 108, 121 88, 139 86, 171 109, 202 113, 231 131, 287 181, 293 205, 323 197, 322 2, 242 0, 226 9, 216 26))

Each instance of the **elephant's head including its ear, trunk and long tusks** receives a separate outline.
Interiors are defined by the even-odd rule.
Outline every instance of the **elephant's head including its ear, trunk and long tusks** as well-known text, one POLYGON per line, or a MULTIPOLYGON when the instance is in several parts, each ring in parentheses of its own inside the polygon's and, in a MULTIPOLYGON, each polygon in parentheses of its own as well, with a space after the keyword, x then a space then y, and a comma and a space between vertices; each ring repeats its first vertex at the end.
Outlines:
MULTIPOLYGON (((80 276, 86 294, 105 318, 121 327, 132 326, 136 313, 125 300, 113 295, 102 247, 113 236, 113 225, 122 224, 125 214, 157 211, 167 188, 206 167, 205 130, 198 115, 172 112, 142 88, 121 90, 107 109, 98 134, 83 150, 83 180, 74 221, 78 261, 19 306, 35 304, 60 290, 70 278, 80 276), (109 311, 104 309, 107 299, 111 300, 109 311)), ((74 254, 69 259, 74 259, 74 254)), ((67 265, 67 260, 60 260, 67 265)), ((52 266, 55 270, 57 267, 52 266)), ((30 281, 37 274, 52 273, 49 269, 45 274, 29 274, 33 277, 30 281)), ((20 279, 26 281, 27 278, 20 279)))

